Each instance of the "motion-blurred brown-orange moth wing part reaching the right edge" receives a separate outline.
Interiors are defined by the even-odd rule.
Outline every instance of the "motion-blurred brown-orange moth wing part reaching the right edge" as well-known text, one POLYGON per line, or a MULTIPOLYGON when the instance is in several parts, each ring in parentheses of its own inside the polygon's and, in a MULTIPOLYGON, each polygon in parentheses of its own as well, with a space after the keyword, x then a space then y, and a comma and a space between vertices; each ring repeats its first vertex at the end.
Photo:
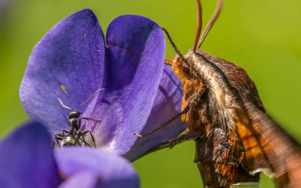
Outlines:
POLYGON ((274 178, 279 187, 301 187, 301 147, 280 126, 252 103, 245 108, 252 120, 256 135, 268 147, 264 151, 274 168, 274 178))

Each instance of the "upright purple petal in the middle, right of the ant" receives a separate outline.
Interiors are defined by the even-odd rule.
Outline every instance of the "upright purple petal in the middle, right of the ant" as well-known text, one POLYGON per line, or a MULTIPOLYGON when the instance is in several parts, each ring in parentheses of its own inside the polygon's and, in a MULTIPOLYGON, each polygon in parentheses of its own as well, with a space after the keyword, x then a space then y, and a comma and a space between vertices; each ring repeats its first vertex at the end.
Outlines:
POLYGON ((90 122, 88 129, 97 147, 123 155, 150 115, 163 70, 165 38, 150 19, 124 15, 110 24, 107 45, 104 99, 91 114, 100 114, 102 122, 90 122))

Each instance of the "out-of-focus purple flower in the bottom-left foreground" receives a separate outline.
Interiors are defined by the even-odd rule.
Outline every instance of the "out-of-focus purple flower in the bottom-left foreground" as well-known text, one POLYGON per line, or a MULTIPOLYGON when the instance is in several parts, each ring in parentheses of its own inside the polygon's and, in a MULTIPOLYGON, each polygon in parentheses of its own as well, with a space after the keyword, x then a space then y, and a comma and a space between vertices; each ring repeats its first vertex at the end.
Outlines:
POLYGON ((123 157, 92 148, 53 150, 39 123, 17 128, 0 151, 3 188, 139 188, 135 169, 123 157))

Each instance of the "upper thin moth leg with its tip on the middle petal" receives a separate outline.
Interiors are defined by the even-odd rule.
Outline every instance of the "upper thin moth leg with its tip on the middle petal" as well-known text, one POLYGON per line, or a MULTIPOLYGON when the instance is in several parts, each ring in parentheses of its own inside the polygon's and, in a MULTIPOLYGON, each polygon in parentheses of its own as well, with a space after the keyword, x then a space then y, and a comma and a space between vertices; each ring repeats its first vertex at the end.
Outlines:
POLYGON ((196 94, 194 94, 192 97, 191 97, 191 100, 189 101, 188 105, 184 108, 183 111, 181 111, 178 115, 176 115, 175 117, 171 118, 170 120, 168 120, 167 122, 165 122, 164 124, 162 124, 161 126, 155 128, 154 130, 152 130, 151 132, 147 133, 147 134, 134 134, 135 136, 137 137, 145 137, 145 136, 149 136, 151 134, 153 134, 154 132, 164 128, 165 126, 169 125, 170 123, 172 123, 173 121, 175 121, 177 118, 179 118, 181 115, 183 114, 186 114, 189 109, 198 104, 200 99, 201 99, 201 96, 204 94, 205 92, 205 87, 201 87, 196 94))

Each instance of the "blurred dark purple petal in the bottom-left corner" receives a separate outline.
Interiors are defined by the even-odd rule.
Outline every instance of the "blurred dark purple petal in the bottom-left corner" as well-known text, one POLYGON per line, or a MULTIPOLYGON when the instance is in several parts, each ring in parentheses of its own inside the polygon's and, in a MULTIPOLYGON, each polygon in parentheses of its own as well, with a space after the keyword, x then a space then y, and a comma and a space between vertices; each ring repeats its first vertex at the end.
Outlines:
POLYGON ((0 143, 2 188, 57 188, 60 176, 46 128, 29 123, 0 143))

